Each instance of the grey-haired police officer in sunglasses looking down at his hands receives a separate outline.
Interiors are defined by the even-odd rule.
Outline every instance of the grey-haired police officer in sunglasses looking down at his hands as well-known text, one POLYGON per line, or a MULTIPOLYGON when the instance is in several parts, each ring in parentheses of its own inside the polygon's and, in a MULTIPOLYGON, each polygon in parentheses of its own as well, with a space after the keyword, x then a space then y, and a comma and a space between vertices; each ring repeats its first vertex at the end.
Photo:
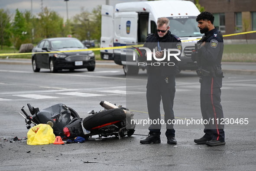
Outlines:
MULTIPOLYGON (((147 36, 143 47, 149 48, 152 52, 152 60, 147 58, 146 51, 142 50, 142 57, 139 61, 146 61, 147 69, 147 90, 146 99, 149 119, 152 121, 149 126, 149 136, 140 141, 142 144, 160 143, 161 121, 165 121, 168 144, 177 144, 175 129, 172 120, 175 119, 173 112, 173 101, 175 96, 175 74, 178 71, 178 60, 174 57, 167 58, 168 49, 178 49, 180 52, 181 40, 169 31, 169 19, 161 17, 157 20, 156 33, 147 36), (154 53, 155 52, 155 53, 154 53), (162 100, 164 119, 161 119, 160 102, 162 100)), ((177 52, 173 52, 177 53, 177 52)), ((177 55, 180 58, 180 55, 177 55)), ((164 125, 165 125, 164 124, 164 125)))

